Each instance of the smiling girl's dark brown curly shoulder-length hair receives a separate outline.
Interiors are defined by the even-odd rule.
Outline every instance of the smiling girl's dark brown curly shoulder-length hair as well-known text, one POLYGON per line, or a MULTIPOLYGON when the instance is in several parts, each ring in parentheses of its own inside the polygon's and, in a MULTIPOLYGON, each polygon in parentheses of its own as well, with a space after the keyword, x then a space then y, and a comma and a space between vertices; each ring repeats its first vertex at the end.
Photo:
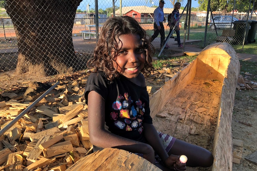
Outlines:
POLYGON ((111 82, 120 76, 117 68, 114 68, 113 61, 118 55, 119 46, 116 38, 123 34, 138 34, 142 40, 142 47, 145 50, 145 66, 141 72, 147 76, 154 71, 152 65, 152 50, 154 47, 146 38, 145 30, 139 23, 129 16, 118 16, 108 19, 101 30, 97 45, 94 50, 94 57, 87 62, 88 68, 94 68, 93 72, 103 71, 111 82), (112 54, 112 52, 114 52, 112 54))

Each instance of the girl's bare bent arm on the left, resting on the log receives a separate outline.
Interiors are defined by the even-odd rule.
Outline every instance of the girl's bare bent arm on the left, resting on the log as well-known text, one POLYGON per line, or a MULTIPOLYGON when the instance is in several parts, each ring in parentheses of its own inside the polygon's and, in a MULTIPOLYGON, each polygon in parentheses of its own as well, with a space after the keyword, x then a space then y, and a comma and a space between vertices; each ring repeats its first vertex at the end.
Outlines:
POLYGON ((154 150, 145 143, 123 138, 105 130, 105 101, 95 91, 88 94, 88 127, 90 142, 101 148, 119 148, 132 153, 143 153, 154 164, 154 150))

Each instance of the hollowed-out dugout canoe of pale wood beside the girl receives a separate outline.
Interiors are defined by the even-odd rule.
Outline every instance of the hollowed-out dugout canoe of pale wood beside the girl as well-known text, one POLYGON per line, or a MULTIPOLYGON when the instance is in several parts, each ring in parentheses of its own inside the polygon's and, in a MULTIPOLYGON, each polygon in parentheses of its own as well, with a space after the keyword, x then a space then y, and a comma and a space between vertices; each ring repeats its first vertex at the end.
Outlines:
MULTIPOLYGON (((150 97, 151 116, 154 118, 159 115, 166 119, 168 117, 168 123, 181 123, 180 126, 173 125, 174 128, 170 129, 177 129, 177 132, 173 133, 177 133, 178 136, 186 134, 186 131, 186 136, 191 135, 192 130, 197 131, 193 124, 198 123, 210 128, 213 123, 211 124, 211 119, 206 118, 209 113, 216 115, 216 128, 212 140, 212 171, 232 170, 231 121, 239 71, 239 59, 233 47, 228 43, 214 43, 205 47, 193 62, 177 72, 150 97), (219 87, 215 87, 214 82, 217 82, 219 87), (198 87, 201 90, 198 90, 198 87), (212 87, 214 88, 211 89, 212 87), (181 92, 182 95, 179 94, 181 92), (183 95, 187 97, 183 98, 183 95), (185 106, 181 107, 183 103, 185 106), (202 105, 197 106, 197 103, 202 105), (199 117, 200 115, 205 119, 199 117), (188 123, 188 126, 185 123, 188 123)), ((205 132, 202 131, 204 134, 205 132)))

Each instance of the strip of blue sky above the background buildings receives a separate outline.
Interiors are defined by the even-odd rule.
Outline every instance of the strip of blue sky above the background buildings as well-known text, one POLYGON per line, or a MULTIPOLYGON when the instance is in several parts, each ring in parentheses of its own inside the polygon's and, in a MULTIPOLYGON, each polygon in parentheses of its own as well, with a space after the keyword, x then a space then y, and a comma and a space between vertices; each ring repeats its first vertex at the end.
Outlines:
MULTIPOLYGON (((115 0, 115 6, 120 6, 120 1, 121 0, 115 0)), ((122 6, 123 7, 128 7, 128 6, 141 6, 141 5, 146 5, 148 7, 152 6, 152 5, 159 5, 159 0, 150 0, 152 3, 147 3, 145 2, 146 0, 122 0, 122 6)), ((187 3, 187 0, 182 0, 181 2, 181 6, 185 7, 187 3)), ((78 9, 80 10, 86 10, 86 5, 89 4, 89 9, 94 8, 95 9, 95 0, 83 0, 80 5, 78 6, 78 9)), ((196 0, 192 0, 192 7, 198 7, 198 1, 196 0)), ((102 8, 103 10, 105 10, 108 7, 112 7, 112 0, 98 0, 98 9, 102 8)), ((171 4, 171 2, 169 0, 165 0, 165 5, 164 8, 173 8, 173 5, 171 4)))

